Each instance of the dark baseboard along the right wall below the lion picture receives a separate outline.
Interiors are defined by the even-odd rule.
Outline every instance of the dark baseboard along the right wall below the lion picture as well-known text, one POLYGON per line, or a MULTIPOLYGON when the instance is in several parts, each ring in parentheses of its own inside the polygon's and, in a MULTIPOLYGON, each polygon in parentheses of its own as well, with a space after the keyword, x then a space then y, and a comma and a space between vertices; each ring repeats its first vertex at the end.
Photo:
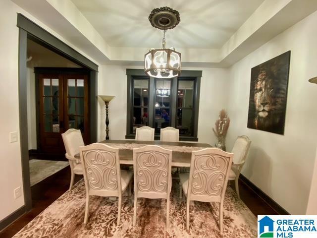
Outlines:
MULTIPOLYGON (((240 174, 239 178, 247 186, 249 186, 259 197, 261 197, 271 208, 273 208, 279 215, 291 215, 284 208, 282 208, 277 202, 266 195, 259 187, 257 187, 253 182, 240 174)), ((265 214, 263 214, 265 215, 265 214)))

